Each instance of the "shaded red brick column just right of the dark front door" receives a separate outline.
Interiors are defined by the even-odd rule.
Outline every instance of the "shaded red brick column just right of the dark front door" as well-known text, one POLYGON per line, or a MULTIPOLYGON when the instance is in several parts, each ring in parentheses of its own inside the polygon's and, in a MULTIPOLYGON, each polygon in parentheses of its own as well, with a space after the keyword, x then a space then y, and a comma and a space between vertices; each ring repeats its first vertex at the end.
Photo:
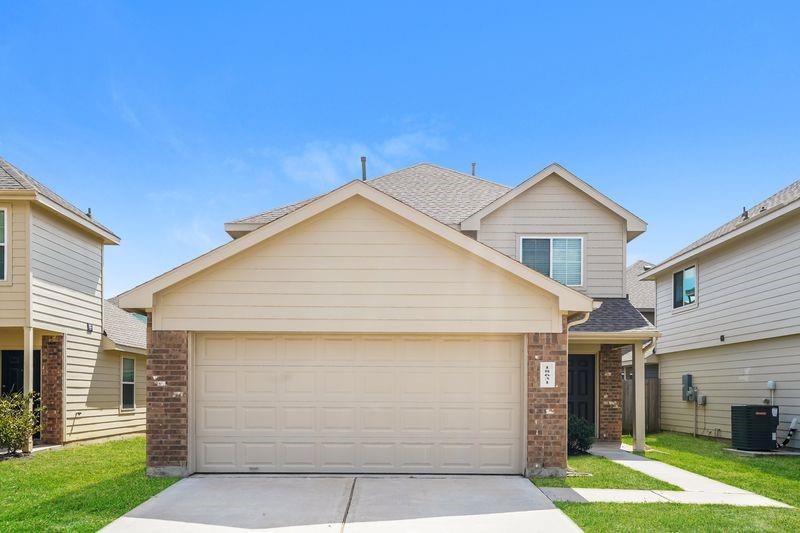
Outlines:
POLYGON ((603 344, 598 356, 599 440, 619 442, 622 435, 622 347, 603 344))

